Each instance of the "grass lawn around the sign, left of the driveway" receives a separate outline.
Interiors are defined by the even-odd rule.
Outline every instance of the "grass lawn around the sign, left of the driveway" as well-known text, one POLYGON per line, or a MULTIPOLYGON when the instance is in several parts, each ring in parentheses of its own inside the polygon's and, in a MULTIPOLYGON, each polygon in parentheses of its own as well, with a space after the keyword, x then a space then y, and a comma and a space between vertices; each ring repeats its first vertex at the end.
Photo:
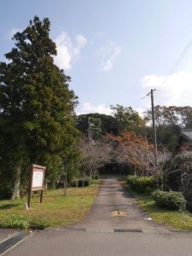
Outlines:
POLYGON ((63 189, 44 192, 44 202, 39 195, 33 195, 31 209, 24 210, 27 198, 0 201, 0 228, 27 229, 47 226, 65 227, 86 217, 99 185, 85 188, 69 188, 68 195, 63 189))

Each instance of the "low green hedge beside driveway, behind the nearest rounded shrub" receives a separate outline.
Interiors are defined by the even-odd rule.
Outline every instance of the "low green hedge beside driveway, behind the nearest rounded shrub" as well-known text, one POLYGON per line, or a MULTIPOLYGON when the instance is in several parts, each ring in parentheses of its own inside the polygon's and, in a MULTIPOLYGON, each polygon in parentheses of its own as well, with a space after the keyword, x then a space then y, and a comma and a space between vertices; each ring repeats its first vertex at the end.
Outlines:
POLYGON ((131 185, 131 189, 144 194, 150 194, 156 187, 154 178, 149 176, 139 177, 137 175, 129 175, 127 177, 127 183, 131 185))

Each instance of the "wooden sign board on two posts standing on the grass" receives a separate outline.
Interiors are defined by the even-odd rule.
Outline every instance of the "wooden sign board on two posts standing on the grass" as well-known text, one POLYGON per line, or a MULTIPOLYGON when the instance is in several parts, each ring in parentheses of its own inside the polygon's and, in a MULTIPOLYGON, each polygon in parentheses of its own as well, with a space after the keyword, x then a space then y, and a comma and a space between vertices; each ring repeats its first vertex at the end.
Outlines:
POLYGON ((46 167, 32 165, 32 172, 29 184, 28 208, 31 207, 32 191, 41 191, 40 203, 44 199, 44 174, 46 167))

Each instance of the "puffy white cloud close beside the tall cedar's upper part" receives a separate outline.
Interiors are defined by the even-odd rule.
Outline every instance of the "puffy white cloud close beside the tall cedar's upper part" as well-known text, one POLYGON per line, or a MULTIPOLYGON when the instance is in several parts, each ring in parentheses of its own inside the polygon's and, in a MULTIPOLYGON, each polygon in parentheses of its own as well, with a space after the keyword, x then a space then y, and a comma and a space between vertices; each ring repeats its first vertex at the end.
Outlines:
POLYGON ((87 44, 87 39, 83 35, 78 35, 75 38, 75 43, 73 43, 67 32, 61 32, 55 38, 55 44, 57 49, 57 55, 55 56, 56 65, 63 69, 70 69, 72 62, 77 60, 81 49, 87 44))

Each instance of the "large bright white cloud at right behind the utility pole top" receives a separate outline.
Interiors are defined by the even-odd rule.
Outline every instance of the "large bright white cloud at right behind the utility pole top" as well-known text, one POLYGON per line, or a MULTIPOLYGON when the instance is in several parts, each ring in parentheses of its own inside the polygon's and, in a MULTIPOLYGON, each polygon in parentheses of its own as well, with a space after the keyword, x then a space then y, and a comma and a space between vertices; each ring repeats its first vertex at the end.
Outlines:
POLYGON ((155 104, 183 106, 192 103, 192 73, 180 71, 170 76, 150 74, 141 79, 143 89, 156 89, 155 104))

